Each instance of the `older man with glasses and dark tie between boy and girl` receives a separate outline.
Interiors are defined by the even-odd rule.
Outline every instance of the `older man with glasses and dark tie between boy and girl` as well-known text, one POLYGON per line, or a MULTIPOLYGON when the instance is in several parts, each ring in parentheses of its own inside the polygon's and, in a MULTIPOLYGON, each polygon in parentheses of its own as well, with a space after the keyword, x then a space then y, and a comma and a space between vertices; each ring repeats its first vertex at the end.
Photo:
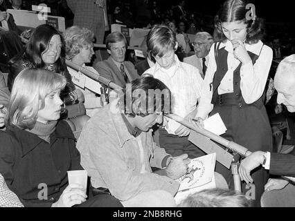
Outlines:
POLYGON ((199 69, 203 79, 208 66, 208 54, 213 43, 213 37, 208 32, 197 32, 193 42, 195 55, 184 58, 184 63, 199 69))

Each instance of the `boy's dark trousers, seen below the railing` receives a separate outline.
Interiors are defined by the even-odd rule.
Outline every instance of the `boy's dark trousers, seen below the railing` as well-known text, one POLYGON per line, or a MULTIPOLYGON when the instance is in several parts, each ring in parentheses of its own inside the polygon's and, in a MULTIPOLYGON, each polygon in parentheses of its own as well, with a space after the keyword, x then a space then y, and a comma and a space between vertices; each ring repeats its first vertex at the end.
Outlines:
POLYGON ((188 154, 190 159, 206 155, 204 151, 188 141, 188 136, 179 137, 172 135, 163 128, 159 128, 159 142, 161 148, 165 148, 166 153, 172 155, 172 157, 177 157, 184 153, 188 154))

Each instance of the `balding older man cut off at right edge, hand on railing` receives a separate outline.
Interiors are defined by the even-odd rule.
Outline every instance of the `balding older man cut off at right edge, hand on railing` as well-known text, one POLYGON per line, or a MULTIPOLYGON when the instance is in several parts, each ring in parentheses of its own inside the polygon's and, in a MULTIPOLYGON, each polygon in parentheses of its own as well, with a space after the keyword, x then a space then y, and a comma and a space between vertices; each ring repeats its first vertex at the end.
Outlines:
MULTIPOLYGON (((290 55, 280 62, 274 78, 274 86, 278 91, 278 104, 284 104, 289 112, 295 112, 295 55, 290 55)), ((256 151, 242 160, 239 169, 241 180, 247 183, 253 182, 250 173, 260 165, 269 170, 271 175, 295 177, 295 155, 256 151)), ((265 184, 265 189, 279 190, 287 184, 289 180, 269 179, 269 182, 265 184)), ((293 202, 289 201, 287 204, 295 206, 295 186, 290 191, 291 193, 288 192, 287 195, 292 195, 293 202)))

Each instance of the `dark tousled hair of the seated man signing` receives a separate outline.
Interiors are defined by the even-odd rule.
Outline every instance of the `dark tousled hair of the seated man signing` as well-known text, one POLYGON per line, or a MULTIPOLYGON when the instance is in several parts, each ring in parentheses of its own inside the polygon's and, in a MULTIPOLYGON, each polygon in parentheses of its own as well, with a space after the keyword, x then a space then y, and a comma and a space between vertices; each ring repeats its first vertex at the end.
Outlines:
POLYGON ((120 106, 125 114, 142 117, 153 113, 170 113, 171 92, 159 79, 144 74, 126 84, 120 97, 120 106))

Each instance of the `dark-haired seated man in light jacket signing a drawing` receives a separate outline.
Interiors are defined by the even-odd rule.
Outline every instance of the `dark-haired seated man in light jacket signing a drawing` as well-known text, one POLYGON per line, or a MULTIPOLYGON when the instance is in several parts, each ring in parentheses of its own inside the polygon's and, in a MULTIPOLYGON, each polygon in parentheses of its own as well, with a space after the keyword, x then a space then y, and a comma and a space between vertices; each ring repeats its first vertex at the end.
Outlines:
POLYGON ((108 189, 123 206, 176 206, 175 180, 190 160, 187 154, 171 157, 154 143, 150 128, 162 123, 164 111, 170 113, 170 90, 144 75, 83 128, 77 143, 83 168, 94 187, 108 189), (152 173, 151 166, 162 170, 152 173))

